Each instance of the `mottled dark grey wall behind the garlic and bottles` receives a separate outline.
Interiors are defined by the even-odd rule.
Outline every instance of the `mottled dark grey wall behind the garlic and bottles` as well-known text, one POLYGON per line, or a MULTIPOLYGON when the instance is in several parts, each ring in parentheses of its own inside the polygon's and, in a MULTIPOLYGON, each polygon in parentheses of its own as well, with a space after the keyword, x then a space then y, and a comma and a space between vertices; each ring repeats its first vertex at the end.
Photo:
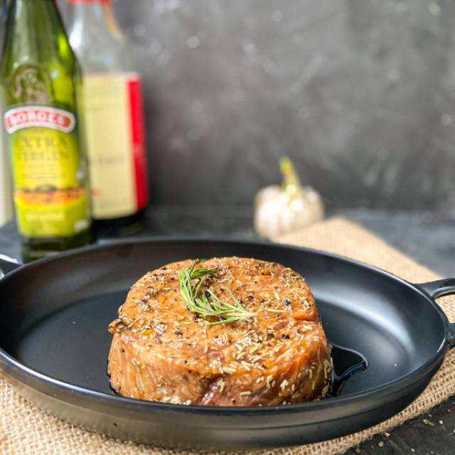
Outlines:
POLYGON ((250 204, 291 156, 331 205, 455 213, 453 0, 116 0, 154 203, 250 204))

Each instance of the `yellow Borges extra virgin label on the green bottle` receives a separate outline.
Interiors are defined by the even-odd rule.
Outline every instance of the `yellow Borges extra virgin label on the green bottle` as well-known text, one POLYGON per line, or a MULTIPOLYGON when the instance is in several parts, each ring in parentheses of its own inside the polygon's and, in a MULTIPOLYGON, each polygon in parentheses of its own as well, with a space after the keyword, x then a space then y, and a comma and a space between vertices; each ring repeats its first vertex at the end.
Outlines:
POLYGON ((14 181, 18 230, 24 237, 71 237, 89 228, 75 115, 47 106, 4 114, 14 181))

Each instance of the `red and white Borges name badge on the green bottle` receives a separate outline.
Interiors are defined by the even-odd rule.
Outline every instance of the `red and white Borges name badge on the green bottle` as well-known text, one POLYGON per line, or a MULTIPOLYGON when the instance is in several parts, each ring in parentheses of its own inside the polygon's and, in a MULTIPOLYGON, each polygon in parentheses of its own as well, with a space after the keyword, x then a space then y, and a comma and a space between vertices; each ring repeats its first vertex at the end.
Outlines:
POLYGON ((12 134, 19 129, 43 127, 64 133, 73 131, 76 119, 71 112, 55 107, 25 106, 9 109, 4 115, 6 132, 12 134))

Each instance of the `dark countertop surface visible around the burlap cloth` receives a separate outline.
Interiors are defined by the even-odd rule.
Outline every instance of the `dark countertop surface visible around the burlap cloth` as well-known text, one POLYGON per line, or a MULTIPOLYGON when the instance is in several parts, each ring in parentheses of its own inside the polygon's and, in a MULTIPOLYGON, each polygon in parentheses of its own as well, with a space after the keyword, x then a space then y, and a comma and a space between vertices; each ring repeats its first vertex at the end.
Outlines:
MULTIPOLYGON (((332 210, 375 232, 399 250, 444 277, 455 277, 455 222, 429 213, 368 209, 332 210)), ((157 207, 146 213, 143 235, 218 235, 257 238, 250 207, 157 207)), ((104 240, 106 241, 106 240, 104 240)), ((19 257, 13 223, 0 229, 0 254, 19 257)), ((454 385, 455 390, 455 385, 454 385)), ((346 452, 348 455, 454 455, 455 397, 392 430, 346 452)))

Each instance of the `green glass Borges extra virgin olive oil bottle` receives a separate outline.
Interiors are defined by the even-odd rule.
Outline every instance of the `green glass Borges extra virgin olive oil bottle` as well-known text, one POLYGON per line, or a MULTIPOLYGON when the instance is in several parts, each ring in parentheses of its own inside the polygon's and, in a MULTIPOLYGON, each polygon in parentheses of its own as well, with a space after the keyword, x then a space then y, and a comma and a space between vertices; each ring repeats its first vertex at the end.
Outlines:
POLYGON ((80 81, 55 0, 11 0, 0 82, 25 260, 91 241, 80 81))

